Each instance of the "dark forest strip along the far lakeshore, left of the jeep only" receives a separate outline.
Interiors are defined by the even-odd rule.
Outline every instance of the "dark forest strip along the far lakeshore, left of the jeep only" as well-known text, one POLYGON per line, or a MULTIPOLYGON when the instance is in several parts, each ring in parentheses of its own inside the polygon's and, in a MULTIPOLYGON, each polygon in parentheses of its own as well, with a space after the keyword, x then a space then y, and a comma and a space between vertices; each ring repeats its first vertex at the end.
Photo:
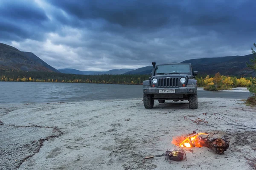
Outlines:
POLYGON ((142 85, 148 75, 80 75, 53 72, 0 71, 0 81, 6 82, 72 82, 142 85))

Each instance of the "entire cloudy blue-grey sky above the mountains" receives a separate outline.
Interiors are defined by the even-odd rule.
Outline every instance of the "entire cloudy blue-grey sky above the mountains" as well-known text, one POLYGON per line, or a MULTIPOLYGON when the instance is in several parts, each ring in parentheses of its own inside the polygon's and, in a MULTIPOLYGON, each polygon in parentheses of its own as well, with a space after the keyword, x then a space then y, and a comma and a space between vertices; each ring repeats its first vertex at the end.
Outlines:
POLYGON ((250 54, 256 0, 0 0, 0 42, 83 71, 250 54))

